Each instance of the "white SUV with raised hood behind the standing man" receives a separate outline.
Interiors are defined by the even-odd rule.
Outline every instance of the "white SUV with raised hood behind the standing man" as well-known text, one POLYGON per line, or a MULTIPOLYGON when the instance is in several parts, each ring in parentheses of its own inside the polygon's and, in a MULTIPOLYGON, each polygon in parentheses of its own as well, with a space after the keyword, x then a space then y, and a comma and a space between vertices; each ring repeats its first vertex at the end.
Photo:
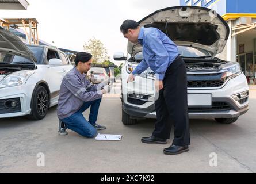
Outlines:
MULTIPOLYGON (((155 11, 139 21, 140 26, 155 27, 178 45, 186 63, 189 118, 215 118, 230 124, 249 109, 249 87, 239 63, 218 59, 229 28, 215 11, 203 7, 177 6, 155 11)), ((126 60, 121 70, 123 124, 140 118, 156 118, 155 74, 148 68, 134 82, 128 75, 143 59, 142 47, 128 43, 128 54, 114 54, 126 60)))

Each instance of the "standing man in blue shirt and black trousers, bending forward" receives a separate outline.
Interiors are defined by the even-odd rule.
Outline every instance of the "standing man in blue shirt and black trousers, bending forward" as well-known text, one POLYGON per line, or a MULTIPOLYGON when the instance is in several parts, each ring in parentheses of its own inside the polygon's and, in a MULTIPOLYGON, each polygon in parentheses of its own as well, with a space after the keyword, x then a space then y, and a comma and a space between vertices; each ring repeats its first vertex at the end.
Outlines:
POLYGON ((142 137, 143 143, 166 144, 174 125, 174 140, 164 154, 174 155, 189 151, 189 118, 186 67, 179 57, 177 45, 161 30, 141 27, 134 20, 125 20, 120 27, 124 37, 143 46, 144 59, 129 75, 134 81, 148 67, 155 72, 155 89, 159 93, 155 101, 156 124, 150 137, 142 137))

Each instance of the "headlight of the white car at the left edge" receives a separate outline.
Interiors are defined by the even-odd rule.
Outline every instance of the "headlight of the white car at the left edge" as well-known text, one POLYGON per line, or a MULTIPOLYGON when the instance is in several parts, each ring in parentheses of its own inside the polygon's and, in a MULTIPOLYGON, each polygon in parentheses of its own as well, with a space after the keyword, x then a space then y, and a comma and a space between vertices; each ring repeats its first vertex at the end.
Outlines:
POLYGON ((34 73, 35 71, 32 70, 13 72, 12 74, 6 76, 5 79, 3 79, 3 81, 0 83, 0 88, 24 85, 28 78, 34 73))

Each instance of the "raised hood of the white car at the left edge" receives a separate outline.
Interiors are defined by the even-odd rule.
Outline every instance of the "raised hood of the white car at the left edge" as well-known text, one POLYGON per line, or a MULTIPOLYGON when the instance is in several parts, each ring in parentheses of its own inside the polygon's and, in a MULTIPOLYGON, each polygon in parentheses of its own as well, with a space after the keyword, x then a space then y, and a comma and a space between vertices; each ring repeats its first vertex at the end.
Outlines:
POLYGON ((33 52, 9 30, 0 26, 0 52, 10 53, 18 56, 25 57, 36 63, 36 57, 33 52))

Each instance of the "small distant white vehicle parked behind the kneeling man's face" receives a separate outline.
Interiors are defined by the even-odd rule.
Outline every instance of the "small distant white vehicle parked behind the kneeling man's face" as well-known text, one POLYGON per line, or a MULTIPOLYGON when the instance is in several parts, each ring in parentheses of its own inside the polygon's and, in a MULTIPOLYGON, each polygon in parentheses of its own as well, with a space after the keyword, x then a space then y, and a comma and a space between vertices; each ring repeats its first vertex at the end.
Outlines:
POLYGON ((104 68, 92 67, 88 72, 87 76, 90 78, 90 81, 94 83, 101 83, 105 79, 108 79, 109 76, 104 68), (93 72, 93 73, 92 73, 93 72), (93 74, 93 78, 91 78, 91 74, 93 74), (93 79, 93 80, 92 80, 93 79))

